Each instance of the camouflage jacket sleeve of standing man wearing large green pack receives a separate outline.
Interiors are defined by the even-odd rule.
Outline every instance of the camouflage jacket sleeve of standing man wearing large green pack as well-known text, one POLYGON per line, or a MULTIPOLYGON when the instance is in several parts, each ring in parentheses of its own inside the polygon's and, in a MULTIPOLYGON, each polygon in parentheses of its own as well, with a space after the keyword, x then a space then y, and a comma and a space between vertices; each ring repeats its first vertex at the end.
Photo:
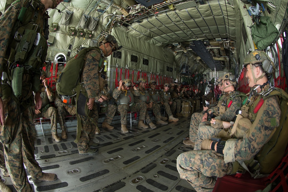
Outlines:
POLYGON ((80 82, 84 82, 84 87, 88 98, 95 98, 99 96, 99 75, 98 63, 101 58, 97 50, 89 51, 85 56, 85 63, 80 82))

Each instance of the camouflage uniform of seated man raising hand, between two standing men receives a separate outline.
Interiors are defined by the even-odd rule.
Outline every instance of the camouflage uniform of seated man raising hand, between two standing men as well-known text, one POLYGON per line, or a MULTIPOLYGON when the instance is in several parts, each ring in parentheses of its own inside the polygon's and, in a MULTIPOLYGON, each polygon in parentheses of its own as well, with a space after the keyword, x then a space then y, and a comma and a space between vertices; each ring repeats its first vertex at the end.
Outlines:
MULTIPOLYGON (((50 87, 48 87, 48 88, 51 91, 51 96, 48 96, 49 102, 53 102, 55 100, 53 90, 50 87)), ((41 95, 43 95, 43 94, 47 94, 45 87, 42 88, 41 95)), ((57 111, 57 109, 55 109, 55 107, 49 107, 47 109, 47 107, 44 106, 43 103, 42 103, 41 110, 42 110, 41 113, 35 114, 34 119, 39 118, 39 117, 45 117, 47 119, 50 119, 50 121, 51 121, 51 133, 52 133, 52 135, 57 135, 57 122, 58 122, 58 119, 59 120, 62 119, 61 115, 58 114, 58 111, 57 111)), ((65 118, 65 116, 64 116, 64 118, 65 118)), ((59 124, 60 124, 62 131, 66 131, 65 124, 63 123, 63 120, 62 120, 62 122, 59 121, 59 124)))

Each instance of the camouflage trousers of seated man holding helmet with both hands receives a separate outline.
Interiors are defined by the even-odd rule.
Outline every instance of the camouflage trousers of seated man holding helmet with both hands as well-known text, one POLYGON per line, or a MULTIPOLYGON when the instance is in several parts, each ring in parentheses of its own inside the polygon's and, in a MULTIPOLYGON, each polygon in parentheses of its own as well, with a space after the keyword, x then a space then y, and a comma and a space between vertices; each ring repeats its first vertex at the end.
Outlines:
POLYGON ((144 102, 135 103, 133 106, 129 106, 128 104, 119 104, 118 105, 118 111, 121 116, 121 124, 126 125, 127 124, 127 112, 140 112, 139 120, 146 120, 146 122, 149 124, 151 123, 151 119, 147 113, 147 107, 144 102))

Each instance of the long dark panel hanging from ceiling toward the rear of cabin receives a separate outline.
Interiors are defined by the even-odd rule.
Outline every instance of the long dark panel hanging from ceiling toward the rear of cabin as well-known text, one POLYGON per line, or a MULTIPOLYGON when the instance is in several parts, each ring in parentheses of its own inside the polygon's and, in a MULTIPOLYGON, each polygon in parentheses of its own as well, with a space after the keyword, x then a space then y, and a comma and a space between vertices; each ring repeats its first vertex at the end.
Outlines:
POLYGON ((209 66, 210 69, 217 71, 222 71, 222 66, 220 61, 213 60, 209 51, 206 49, 205 45, 201 40, 193 41, 194 45, 190 45, 190 48, 200 56, 200 58, 209 66))

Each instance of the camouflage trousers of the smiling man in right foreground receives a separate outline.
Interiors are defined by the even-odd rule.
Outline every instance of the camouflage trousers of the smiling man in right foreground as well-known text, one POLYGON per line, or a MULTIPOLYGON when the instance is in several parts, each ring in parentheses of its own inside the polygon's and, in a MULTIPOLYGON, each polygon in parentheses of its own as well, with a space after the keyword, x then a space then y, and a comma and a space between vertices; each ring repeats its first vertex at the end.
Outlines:
POLYGON ((216 177, 232 172, 232 163, 226 164, 224 156, 214 150, 187 151, 177 157, 177 170, 197 192, 211 192, 216 177))

